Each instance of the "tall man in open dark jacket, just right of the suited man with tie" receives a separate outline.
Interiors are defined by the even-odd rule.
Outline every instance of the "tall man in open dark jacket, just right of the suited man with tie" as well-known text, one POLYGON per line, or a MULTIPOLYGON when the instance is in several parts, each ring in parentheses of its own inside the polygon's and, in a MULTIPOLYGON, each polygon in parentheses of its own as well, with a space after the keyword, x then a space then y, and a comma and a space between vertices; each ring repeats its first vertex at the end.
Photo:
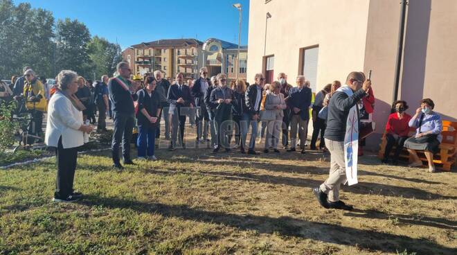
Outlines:
POLYGON ((195 107, 197 107, 197 118, 195 123, 197 125, 197 143, 204 142, 208 139, 209 115, 206 110, 204 96, 210 84, 208 70, 206 67, 201 67, 200 78, 195 80, 194 87, 192 87, 191 91, 192 96, 195 98, 195 107))

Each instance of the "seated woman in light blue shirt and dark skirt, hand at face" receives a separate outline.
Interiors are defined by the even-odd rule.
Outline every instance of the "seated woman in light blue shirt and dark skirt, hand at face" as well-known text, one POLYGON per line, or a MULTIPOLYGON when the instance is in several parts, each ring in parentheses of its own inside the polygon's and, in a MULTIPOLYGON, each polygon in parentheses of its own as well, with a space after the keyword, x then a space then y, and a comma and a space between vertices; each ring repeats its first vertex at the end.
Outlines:
POLYGON ((442 121, 441 116, 433 112, 435 104, 430 98, 420 101, 420 107, 416 109, 414 116, 409 121, 411 128, 417 128, 415 136, 404 142, 404 147, 408 149, 409 154, 413 157, 413 163, 410 167, 422 166, 416 150, 424 150, 425 157, 429 161, 429 172, 436 172, 433 164, 433 154, 438 152, 442 140, 442 121))

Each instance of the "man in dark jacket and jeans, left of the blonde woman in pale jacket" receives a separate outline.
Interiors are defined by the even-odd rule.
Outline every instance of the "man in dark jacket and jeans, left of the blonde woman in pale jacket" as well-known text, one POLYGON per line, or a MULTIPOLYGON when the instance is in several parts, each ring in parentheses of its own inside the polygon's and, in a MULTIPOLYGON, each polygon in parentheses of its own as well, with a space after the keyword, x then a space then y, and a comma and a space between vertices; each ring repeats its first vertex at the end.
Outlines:
MULTIPOLYGON (((257 73, 254 76, 256 83, 253 85, 249 85, 244 93, 244 97, 246 99, 246 107, 249 110, 250 121, 249 124, 252 126, 251 132, 251 140, 249 141, 249 150, 248 154, 256 155, 256 138, 257 138, 257 124, 259 119, 259 112, 260 112, 260 103, 262 102, 262 93, 263 93, 263 85, 265 84, 265 76, 262 73, 257 73)), ((249 130, 248 124, 248 130, 249 130)))

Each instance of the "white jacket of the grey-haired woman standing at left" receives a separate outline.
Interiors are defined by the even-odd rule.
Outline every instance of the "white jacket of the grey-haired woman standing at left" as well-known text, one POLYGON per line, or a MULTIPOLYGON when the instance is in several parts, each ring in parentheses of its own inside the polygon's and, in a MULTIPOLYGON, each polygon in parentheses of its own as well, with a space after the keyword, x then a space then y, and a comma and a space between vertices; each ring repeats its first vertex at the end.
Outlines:
POLYGON ((44 142, 47 146, 57 147, 62 137, 64 149, 82 146, 84 132, 78 130, 82 124, 82 112, 73 106, 69 98, 56 92, 48 104, 44 142))

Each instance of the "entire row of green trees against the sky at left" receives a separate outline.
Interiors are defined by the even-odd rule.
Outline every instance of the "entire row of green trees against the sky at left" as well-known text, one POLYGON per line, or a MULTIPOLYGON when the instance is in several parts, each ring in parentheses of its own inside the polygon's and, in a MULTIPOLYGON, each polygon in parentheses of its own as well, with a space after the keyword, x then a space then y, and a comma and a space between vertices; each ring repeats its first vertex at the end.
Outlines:
POLYGON ((0 0, 0 78, 22 73, 25 66, 38 76, 53 78, 62 69, 71 69, 86 78, 114 73, 122 60, 120 46, 101 37, 91 38, 89 29, 77 19, 55 23, 52 12, 15 6, 0 0))

